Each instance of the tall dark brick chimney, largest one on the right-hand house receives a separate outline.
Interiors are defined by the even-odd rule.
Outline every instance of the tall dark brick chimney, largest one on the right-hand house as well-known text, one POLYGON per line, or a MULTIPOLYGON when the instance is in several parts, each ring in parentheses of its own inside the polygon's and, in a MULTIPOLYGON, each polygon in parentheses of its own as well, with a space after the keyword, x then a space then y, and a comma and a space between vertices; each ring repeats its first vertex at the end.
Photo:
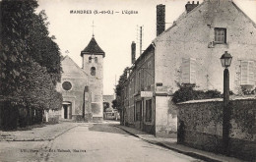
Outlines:
POLYGON ((165 30, 165 5, 157 6, 157 36, 165 30))

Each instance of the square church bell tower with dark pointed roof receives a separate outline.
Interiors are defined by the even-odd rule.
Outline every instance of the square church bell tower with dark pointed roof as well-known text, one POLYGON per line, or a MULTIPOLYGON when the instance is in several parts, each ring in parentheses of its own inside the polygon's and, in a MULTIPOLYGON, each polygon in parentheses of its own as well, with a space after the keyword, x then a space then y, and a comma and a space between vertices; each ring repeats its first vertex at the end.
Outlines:
POLYGON ((103 58, 104 51, 97 45, 95 35, 81 51, 83 69, 89 75, 93 121, 103 119, 103 58))

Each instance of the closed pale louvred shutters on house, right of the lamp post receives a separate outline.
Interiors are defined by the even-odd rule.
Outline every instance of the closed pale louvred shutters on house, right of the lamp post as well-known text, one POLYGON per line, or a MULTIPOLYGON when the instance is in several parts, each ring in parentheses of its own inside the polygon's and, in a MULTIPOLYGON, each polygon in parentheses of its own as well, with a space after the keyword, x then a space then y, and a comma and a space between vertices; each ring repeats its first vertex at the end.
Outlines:
POLYGON ((254 61, 241 61, 241 85, 254 85, 254 61))

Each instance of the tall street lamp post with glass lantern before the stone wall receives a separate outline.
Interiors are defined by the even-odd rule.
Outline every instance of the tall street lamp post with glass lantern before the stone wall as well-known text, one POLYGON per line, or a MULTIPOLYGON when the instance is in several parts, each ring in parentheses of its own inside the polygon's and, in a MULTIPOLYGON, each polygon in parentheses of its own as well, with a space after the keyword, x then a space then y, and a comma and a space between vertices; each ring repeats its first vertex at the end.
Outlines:
POLYGON ((232 56, 224 51, 221 57, 221 63, 224 67, 224 108, 223 108, 223 149, 224 154, 228 154, 228 141, 229 141, 229 120, 230 110, 228 107, 229 102, 229 72, 228 67, 231 65, 232 56))

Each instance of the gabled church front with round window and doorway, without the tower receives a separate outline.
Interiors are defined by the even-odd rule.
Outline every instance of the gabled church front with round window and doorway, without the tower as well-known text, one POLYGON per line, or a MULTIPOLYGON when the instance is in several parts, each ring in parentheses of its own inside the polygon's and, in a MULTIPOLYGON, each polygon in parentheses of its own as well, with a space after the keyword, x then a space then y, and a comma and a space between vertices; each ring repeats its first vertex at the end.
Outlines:
POLYGON ((61 64, 63 73, 61 82, 57 84, 57 89, 63 96, 60 118, 82 120, 83 114, 91 113, 90 98, 85 97, 86 93, 90 93, 89 77, 69 56, 65 56, 61 64))

